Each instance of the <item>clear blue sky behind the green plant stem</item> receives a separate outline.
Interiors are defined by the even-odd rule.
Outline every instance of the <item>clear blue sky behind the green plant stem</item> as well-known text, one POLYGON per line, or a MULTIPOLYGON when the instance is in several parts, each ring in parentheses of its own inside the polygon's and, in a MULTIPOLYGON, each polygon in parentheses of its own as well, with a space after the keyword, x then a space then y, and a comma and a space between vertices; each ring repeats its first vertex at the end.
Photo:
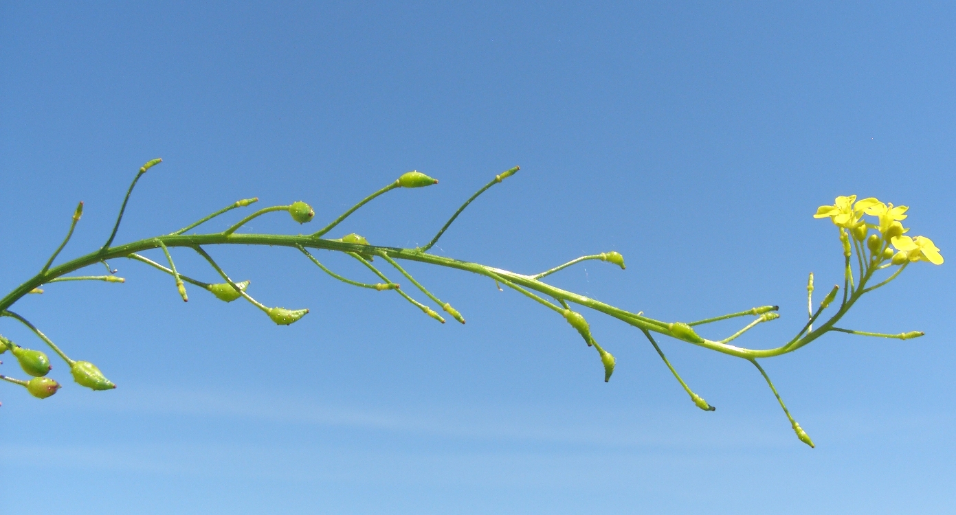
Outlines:
MULTIPOLYGON (((155 157, 120 242, 251 196, 326 221, 418 169, 441 183, 338 231, 414 246, 520 164, 437 253, 534 272, 619 250, 626 271, 554 284, 664 320, 779 304, 740 340, 776 346, 806 316, 807 272, 840 280, 836 231, 811 217, 836 195, 911 205, 914 233, 956 259, 954 29, 951 3, 4 2, 0 290, 40 268, 77 201, 64 255, 101 245, 155 157)), ((276 214, 249 230, 305 229, 276 214)), ((605 384, 554 312, 480 277, 409 266, 467 316, 442 326, 290 249, 210 252, 266 304, 312 312, 279 328, 195 288, 184 304, 125 261, 124 285, 23 299, 120 388, 82 390, 58 362, 55 397, 0 385, 0 512, 956 510, 951 262, 907 269, 843 324, 925 337, 829 335, 765 361, 811 449, 739 359, 662 341, 705 413, 616 320, 589 316, 618 356, 605 384)), ((0 333, 40 347, 10 319, 0 333)))

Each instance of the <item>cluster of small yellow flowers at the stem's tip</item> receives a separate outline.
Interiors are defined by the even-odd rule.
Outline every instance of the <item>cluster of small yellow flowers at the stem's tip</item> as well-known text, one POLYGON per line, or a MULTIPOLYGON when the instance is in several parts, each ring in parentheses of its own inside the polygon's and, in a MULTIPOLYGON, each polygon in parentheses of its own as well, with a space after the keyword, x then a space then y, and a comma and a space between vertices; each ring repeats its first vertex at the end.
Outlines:
POLYGON ((858 201, 856 195, 840 196, 833 205, 819 206, 814 218, 829 217, 839 227, 841 239, 848 239, 846 233, 849 232, 857 242, 865 241, 873 261, 890 259, 892 265, 928 261, 942 265, 943 256, 932 240, 925 236, 905 236, 909 229, 902 226, 902 220, 906 219, 908 209, 905 205, 883 204, 873 197, 858 201), (863 215, 876 217, 877 223, 867 222, 863 215), (871 228, 877 229, 879 235, 867 237, 871 228))

